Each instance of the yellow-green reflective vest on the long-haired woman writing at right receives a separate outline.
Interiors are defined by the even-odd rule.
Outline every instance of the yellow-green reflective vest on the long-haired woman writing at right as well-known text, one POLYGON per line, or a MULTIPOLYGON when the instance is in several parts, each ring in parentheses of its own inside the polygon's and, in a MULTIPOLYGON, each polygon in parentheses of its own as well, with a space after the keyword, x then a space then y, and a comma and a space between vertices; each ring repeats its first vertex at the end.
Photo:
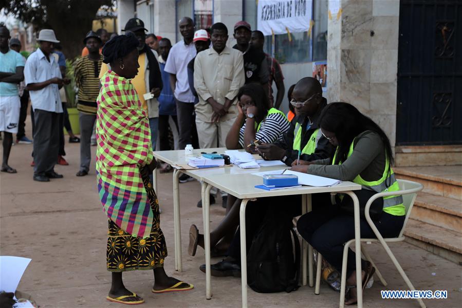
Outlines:
MULTIPOLYGON (((352 144, 350 145, 347 157, 350 157, 352 155, 354 143, 355 140, 353 140, 352 144)), ((332 165, 335 165, 337 151, 338 148, 335 151, 334 159, 332 160, 332 165)), ((340 164, 342 164, 341 161, 339 161, 339 165, 340 164)), ((375 192, 399 191, 399 184, 396 180, 392 167, 390 167, 390 160, 388 159, 388 157, 385 157, 385 170, 383 171, 382 177, 379 180, 368 182, 364 180, 361 177, 361 175, 358 174, 353 179, 353 182, 361 185, 365 189, 373 190, 375 192)), ((396 205, 403 205, 403 198, 401 195, 383 197, 383 208, 396 205)))

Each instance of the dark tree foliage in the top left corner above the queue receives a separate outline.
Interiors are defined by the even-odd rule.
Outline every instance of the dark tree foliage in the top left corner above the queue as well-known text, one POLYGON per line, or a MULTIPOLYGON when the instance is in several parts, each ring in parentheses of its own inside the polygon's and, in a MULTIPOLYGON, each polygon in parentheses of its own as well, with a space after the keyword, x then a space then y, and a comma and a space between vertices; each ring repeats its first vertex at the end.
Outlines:
POLYGON ((98 9, 115 0, 0 0, 0 8, 34 30, 53 29, 68 58, 80 55, 85 34, 91 30, 98 9))

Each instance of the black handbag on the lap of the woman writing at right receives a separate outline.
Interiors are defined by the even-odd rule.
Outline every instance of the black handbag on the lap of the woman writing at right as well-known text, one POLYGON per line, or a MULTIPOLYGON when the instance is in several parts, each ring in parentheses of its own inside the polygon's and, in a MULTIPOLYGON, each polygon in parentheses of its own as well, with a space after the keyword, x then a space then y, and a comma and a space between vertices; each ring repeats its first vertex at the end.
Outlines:
MULTIPOLYGON (((369 189, 361 189, 353 191, 359 200, 359 214, 362 219, 365 219, 364 209, 366 207, 367 201, 375 195, 377 192, 369 189)), ((338 200, 338 199, 337 199, 338 200)), ((337 202, 340 205, 340 211, 347 213, 348 215, 354 216, 354 206, 353 199, 347 194, 343 194, 343 199, 340 202, 337 202)), ((377 198, 371 204, 369 208, 369 214, 371 214, 371 219, 373 221, 380 220, 383 212, 383 197, 377 198)))

